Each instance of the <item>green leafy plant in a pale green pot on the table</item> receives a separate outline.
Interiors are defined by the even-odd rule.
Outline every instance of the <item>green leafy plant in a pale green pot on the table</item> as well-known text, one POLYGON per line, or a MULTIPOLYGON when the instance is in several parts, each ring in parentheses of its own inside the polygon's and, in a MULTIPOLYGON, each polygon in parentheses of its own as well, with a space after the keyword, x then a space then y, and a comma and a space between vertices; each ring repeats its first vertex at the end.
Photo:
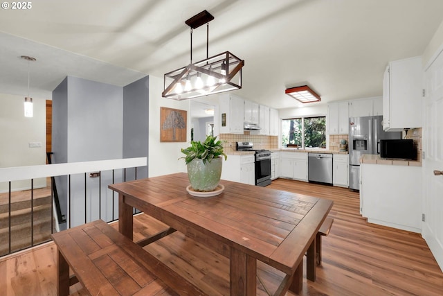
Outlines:
POLYGON ((191 141, 191 146, 181 149, 186 156, 189 182, 194 191, 214 191, 220 182, 222 158, 228 157, 223 152, 224 141, 208 136, 206 140, 191 141))

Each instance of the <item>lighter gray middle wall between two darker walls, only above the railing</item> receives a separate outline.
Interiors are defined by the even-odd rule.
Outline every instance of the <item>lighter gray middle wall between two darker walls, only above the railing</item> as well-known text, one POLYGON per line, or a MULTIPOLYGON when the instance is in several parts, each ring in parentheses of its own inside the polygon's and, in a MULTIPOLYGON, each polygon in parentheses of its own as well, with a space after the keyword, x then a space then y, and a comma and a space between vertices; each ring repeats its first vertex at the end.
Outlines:
POLYGON ((123 88, 68 77, 68 162, 123 155, 123 88))

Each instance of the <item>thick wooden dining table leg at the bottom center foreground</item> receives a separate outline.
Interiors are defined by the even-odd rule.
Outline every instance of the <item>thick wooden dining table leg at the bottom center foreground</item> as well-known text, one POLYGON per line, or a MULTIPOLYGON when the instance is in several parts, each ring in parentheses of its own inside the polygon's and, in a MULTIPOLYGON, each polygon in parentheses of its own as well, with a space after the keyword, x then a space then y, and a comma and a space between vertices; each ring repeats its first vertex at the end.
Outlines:
POLYGON ((230 248, 230 295, 257 294, 257 260, 230 248))

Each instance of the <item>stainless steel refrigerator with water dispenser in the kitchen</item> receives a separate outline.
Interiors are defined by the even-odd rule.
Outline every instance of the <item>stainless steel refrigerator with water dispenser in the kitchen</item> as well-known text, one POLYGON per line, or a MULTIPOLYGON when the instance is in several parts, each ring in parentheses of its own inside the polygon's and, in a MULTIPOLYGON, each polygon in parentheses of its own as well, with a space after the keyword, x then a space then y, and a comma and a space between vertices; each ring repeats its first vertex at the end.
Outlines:
POLYGON ((383 116, 350 117, 349 119, 349 188, 360 190, 360 158, 364 154, 380 154, 380 140, 401 139, 401 132, 385 132, 383 116))

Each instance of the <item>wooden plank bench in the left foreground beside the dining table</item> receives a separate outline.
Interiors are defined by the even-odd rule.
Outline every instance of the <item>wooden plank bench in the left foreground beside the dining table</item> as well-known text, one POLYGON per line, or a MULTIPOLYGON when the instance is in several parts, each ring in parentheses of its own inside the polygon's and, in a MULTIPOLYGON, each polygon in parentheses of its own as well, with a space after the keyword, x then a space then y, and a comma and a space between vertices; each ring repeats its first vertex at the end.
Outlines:
POLYGON ((53 234, 53 241, 57 295, 69 295, 79 281, 93 296, 206 295, 102 220, 53 234))

